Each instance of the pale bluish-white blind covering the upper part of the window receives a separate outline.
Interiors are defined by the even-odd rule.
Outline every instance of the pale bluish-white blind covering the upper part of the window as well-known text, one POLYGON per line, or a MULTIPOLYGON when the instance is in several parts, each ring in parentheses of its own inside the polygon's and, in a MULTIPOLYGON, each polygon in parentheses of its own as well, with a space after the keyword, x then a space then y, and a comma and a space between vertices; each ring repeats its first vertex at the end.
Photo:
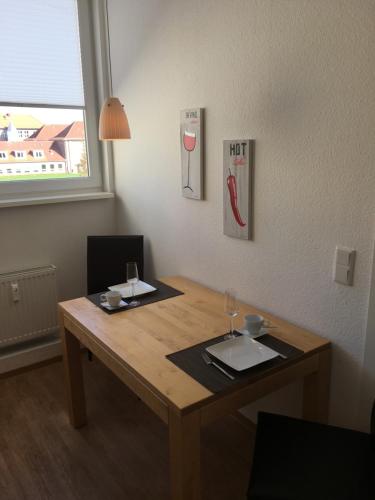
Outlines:
POLYGON ((77 0, 0 0, 0 12, 1 102, 83 106, 77 0))

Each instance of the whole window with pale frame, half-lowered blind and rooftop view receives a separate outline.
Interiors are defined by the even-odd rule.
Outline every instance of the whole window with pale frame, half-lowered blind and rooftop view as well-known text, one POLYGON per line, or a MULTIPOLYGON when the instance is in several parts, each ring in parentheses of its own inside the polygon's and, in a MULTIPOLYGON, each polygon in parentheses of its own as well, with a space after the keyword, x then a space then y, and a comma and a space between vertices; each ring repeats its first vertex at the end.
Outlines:
MULTIPOLYGON (((97 57, 107 51, 104 4, 92 0, 2 2, 7 23, 0 30, 1 65, 7 78, 0 78, 0 116, 7 116, 8 127, 0 133, 9 142, 30 143, 33 152, 29 170, 24 171, 32 172, 30 179, 0 179, 0 203, 12 197, 103 191, 101 163, 104 160, 108 165, 108 159, 107 148, 97 139, 96 99, 108 87, 103 72, 107 61, 97 57), (22 37, 14 36, 15 25, 19 33, 27 31, 26 45, 22 37), (64 127, 58 130, 58 125, 64 127), (33 141, 49 145, 38 144, 33 150, 33 141), (45 164, 40 170, 36 161, 40 158, 55 160, 56 168, 62 169, 60 175, 49 175, 45 164)), ((15 157, 24 159, 25 152, 17 151, 15 157)))

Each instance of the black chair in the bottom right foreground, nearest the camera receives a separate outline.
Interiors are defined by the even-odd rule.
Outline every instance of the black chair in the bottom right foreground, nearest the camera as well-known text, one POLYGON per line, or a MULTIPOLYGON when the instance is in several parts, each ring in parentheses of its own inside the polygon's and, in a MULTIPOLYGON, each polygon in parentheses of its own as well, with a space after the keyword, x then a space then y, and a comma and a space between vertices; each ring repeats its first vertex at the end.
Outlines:
POLYGON ((260 412, 247 498, 374 500, 374 440, 374 434, 260 412))

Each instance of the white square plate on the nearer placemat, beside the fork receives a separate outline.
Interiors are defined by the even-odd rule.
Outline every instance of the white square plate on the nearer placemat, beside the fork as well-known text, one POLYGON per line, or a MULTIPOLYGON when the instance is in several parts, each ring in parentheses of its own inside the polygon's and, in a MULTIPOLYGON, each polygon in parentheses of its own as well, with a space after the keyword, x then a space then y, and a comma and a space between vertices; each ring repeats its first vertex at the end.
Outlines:
POLYGON ((206 347, 206 351, 237 371, 246 370, 279 355, 273 349, 243 335, 206 347))

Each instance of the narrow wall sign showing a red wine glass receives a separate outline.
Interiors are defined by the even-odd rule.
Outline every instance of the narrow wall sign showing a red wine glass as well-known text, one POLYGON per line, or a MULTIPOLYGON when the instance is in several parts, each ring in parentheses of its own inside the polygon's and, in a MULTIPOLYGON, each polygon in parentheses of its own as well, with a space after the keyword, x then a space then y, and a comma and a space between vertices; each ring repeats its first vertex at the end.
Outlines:
POLYGON ((180 115, 182 195, 203 200, 203 108, 180 115))

